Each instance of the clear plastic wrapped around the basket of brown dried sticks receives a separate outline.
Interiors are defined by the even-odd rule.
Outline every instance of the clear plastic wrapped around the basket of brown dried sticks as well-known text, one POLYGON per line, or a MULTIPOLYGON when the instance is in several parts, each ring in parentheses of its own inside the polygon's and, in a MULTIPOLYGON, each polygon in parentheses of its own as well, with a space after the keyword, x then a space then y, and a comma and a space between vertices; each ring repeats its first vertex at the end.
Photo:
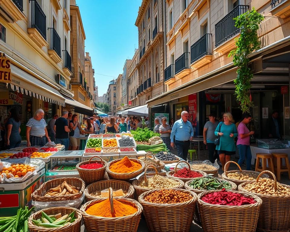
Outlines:
POLYGON ((36 211, 50 208, 50 207, 72 207, 72 208, 79 208, 82 204, 82 201, 85 198, 85 193, 83 192, 82 196, 77 199, 73 200, 66 200, 66 201, 34 201, 32 200, 32 205, 35 207, 36 211))

